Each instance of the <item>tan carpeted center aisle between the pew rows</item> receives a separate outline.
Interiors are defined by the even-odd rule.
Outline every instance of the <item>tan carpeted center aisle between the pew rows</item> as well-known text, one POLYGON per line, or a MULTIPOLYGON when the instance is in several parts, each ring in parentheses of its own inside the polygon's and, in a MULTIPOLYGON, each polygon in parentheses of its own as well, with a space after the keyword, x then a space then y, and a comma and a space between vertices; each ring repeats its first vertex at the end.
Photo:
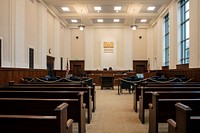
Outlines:
POLYGON ((101 90, 96 86, 97 108, 87 133, 148 133, 148 125, 141 124, 133 111, 133 95, 128 91, 118 95, 117 88, 101 90))

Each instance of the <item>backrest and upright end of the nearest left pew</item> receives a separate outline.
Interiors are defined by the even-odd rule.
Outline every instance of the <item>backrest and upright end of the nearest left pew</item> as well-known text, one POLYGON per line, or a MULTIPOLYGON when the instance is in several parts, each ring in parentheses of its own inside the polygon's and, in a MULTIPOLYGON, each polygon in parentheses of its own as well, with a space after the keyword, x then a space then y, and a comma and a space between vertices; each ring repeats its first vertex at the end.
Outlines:
POLYGON ((1 133, 66 133, 67 106, 66 103, 60 104, 51 116, 0 114, 1 133))

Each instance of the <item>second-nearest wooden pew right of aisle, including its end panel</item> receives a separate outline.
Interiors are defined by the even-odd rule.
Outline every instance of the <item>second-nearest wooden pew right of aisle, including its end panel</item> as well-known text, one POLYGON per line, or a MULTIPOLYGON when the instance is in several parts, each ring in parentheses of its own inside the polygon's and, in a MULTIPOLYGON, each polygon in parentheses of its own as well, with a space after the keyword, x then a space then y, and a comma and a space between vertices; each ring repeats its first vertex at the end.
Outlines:
POLYGON ((200 91, 153 92, 152 103, 149 103, 149 133, 158 133, 158 123, 175 119, 174 105, 177 102, 196 105, 195 101, 200 102, 200 91))

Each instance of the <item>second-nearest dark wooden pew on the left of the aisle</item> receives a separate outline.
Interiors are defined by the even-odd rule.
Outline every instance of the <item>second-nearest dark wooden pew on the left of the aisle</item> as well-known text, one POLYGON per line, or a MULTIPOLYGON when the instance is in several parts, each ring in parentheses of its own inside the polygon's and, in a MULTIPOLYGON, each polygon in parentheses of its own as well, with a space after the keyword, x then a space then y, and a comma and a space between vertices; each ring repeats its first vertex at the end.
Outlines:
MULTIPOLYGON (((0 107, 8 108, 4 105, 3 100, 6 98, 16 100, 14 102, 14 113, 20 109, 17 105, 30 104, 31 107, 24 109, 23 114, 35 113, 40 114, 41 110, 50 110, 49 108, 54 108, 55 105, 66 102, 69 104, 67 116, 73 119, 74 122, 78 123, 79 133, 85 133, 85 104, 83 103, 83 92, 69 92, 69 91, 0 91, 0 107), (31 101, 29 100, 31 99, 31 101), (50 100, 49 100, 50 99, 50 100), (23 103, 21 101, 23 100, 23 103), (37 103, 36 103, 37 102, 37 103), (39 111, 38 111, 39 109, 39 111)), ((28 106, 28 105, 27 105, 28 106)), ((24 105, 26 107, 26 105, 24 105)), ((3 112, 6 110, 0 110, 0 114, 9 113, 3 112)))

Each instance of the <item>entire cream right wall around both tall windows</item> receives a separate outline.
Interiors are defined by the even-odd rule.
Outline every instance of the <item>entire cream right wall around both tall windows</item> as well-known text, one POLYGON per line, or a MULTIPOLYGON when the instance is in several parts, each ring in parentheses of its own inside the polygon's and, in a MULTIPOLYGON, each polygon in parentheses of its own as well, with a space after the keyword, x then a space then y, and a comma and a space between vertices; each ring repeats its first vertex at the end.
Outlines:
MULTIPOLYGON (((190 68, 200 67, 200 1, 190 1, 190 68)), ((154 23, 152 28, 148 29, 148 57, 151 61, 151 69, 162 68, 162 23, 164 15, 169 12, 169 25, 170 25, 170 64, 169 69, 176 69, 176 65, 180 63, 180 51, 179 51, 179 15, 178 15, 178 2, 173 0, 166 8, 160 17, 154 23), (152 46, 154 49, 150 48, 152 46), (156 57, 156 62, 155 62, 156 57), (152 63, 153 61, 153 63, 152 63), (155 67, 156 63, 156 67, 155 67), (153 68, 152 68, 153 66, 153 68)))

